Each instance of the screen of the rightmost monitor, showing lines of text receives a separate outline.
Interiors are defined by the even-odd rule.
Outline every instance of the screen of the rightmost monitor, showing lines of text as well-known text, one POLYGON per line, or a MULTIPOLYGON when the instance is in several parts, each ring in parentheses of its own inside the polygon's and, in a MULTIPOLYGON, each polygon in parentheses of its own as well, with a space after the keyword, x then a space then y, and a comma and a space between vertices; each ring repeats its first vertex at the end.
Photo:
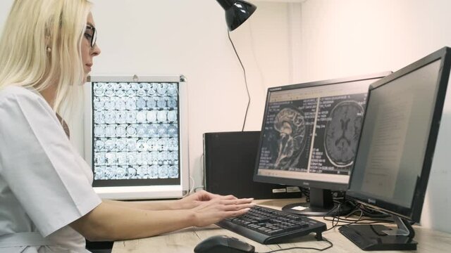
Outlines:
POLYGON ((442 65, 436 58, 371 87, 350 195, 419 221, 412 208, 435 146, 442 65))

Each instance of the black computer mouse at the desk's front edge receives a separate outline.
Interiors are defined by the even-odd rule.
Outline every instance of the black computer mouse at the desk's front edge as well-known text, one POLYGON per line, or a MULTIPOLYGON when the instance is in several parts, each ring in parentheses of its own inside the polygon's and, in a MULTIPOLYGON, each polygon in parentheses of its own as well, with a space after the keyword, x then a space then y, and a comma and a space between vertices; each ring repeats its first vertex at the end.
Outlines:
POLYGON ((215 235, 206 238, 194 248, 196 253, 235 253, 255 252, 255 247, 226 235, 215 235))

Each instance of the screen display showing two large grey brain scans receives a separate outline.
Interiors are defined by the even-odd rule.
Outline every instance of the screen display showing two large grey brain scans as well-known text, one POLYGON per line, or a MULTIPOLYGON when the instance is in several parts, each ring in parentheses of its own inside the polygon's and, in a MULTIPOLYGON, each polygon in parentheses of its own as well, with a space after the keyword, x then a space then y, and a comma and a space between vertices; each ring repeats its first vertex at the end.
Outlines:
POLYGON ((258 174, 347 183, 373 81, 271 90, 258 174))

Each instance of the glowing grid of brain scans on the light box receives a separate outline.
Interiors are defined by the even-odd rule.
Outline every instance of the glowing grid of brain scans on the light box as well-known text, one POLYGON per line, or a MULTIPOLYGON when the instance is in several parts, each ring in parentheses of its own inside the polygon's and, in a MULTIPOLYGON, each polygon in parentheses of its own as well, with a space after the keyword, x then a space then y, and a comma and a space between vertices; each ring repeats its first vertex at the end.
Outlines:
POLYGON ((178 83, 93 82, 94 183, 180 183, 178 95, 178 83))

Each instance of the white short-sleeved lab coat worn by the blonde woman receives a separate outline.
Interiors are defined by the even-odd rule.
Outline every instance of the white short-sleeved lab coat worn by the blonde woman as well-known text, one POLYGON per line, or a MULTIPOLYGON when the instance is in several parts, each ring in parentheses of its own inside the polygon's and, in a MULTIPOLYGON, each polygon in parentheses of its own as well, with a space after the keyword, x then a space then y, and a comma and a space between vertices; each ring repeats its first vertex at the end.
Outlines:
POLYGON ((0 89, 0 243, 1 235, 37 231, 53 244, 0 252, 87 252, 68 224, 100 203, 91 169, 46 100, 23 87, 0 89))

